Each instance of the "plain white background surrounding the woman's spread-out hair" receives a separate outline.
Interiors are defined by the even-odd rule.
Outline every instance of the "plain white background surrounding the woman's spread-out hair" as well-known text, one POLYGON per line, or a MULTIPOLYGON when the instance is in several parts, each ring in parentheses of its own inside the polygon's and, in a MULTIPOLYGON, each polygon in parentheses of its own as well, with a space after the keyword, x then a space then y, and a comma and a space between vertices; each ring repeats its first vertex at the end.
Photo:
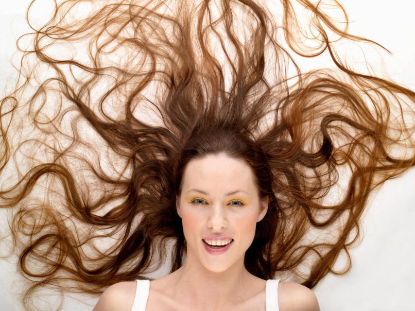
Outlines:
MULTIPOLYGON (((28 31, 24 12, 29 0, 2 3, 0 11, 0 97, 6 82, 16 73, 11 57, 16 39, 28 31)), ((52 1, 44 1, 52 3, 52 1)), ((379 42, 393 55, 371 52, 368 61, 380 66, 397 82, 415 89, 415 4, 409 0, 341 1, 351 21, 349 31, 379 42), (372 58, 373 57, 373 58, 372 58)), ((362 47, 363 48, 363 47, 362 47)), ((368 56, 368 57, 369 57, 368 56)), ((354 56, 353 56, 354 57, 354 56)), ((295 58, 300 68, 301 59, 295 58)), ((308 60, 314 65, 327 64, 308 60)), ((376 68, 375 68, 376 69, 376 68)), ((10 80, 11 79, 11 80, 10 80)), ((415 105, 414 105, 415 108, 415 105)), ((374 193, 363 218, 363 242, 351 250, 353 267, 345 276, 326 276, 313 290, 322 311, 410 311, 415 310, 415 170, 387 181, 374 193)), ((0 210, 0 226, 6 226, 0 210)), ((1 245, 0 245, 1 246, 1 245)), ((21 306, 12 294, 16 288, 15 263, 0 259, 0 310, 18 311, 21 306)), ((96 299, 79 296, 82 302, 65 298, 62 310, 91 310, 96 299)))

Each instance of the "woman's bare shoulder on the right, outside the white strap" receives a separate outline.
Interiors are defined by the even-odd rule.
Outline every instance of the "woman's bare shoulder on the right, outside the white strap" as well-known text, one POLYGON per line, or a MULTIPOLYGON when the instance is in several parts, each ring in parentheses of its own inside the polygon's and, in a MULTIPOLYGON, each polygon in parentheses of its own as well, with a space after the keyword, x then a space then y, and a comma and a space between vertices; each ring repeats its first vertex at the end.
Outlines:
POLYGON ((293 282, 279 282, 278 306, 279 311, 320 311, 313 291, 293 282))

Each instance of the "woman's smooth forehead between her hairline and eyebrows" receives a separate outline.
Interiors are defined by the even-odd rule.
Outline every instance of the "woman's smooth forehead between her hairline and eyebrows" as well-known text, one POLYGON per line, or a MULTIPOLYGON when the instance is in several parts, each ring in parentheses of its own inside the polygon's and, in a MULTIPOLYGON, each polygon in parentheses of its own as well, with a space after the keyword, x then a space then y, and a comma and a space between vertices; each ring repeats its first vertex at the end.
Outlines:
POLYGON ((242 159, 231 158, 225 154, 206 155, 192 159, 183 174, 183 190, 197 188, 215 193, 231 190, 255 192, 254 173, 242 159))

